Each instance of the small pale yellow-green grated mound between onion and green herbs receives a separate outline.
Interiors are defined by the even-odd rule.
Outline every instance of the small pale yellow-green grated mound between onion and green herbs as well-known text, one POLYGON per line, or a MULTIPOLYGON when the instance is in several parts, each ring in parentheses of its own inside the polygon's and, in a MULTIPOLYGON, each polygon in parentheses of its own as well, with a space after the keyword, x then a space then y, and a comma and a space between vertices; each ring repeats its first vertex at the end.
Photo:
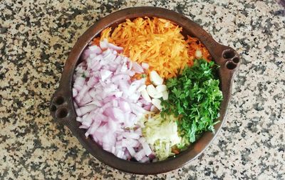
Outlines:
POLYGON ((172 153, 172 146, 181 143, 177 132, 177 118, 172 115, 162 118, 160 114, 149 114, 143 121, 145 127, 142 134, 155 151, 157 159, 161 161, 175 155, 172 153))

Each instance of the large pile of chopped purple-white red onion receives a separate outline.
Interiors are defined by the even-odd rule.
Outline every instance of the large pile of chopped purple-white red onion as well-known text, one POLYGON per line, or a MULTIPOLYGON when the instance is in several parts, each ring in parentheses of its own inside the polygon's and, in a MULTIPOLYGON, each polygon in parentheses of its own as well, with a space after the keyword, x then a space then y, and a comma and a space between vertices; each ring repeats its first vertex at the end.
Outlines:
POLYGON ((152 104, 138 91, 145 79, 131 81, 131 77, 144 73, 148 64, 140 66, 121 55, 122 51, 104 39, 100 46, 91 45, 83 52, 73 76, 76 121, 105 151, 146 162, 154 153, 135 124, 152 104))

